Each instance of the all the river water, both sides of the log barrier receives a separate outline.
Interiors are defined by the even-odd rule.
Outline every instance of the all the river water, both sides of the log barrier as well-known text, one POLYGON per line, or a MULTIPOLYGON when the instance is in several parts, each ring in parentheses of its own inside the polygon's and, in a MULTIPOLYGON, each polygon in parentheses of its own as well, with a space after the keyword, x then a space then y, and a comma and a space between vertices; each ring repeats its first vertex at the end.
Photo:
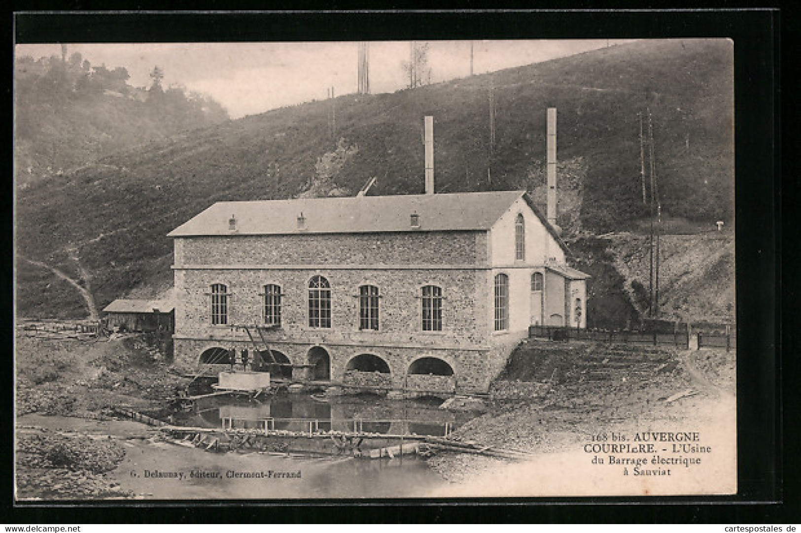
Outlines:
MULTIPOLYGON (((248 427, 272 418, 276 428, 347 429, 354 420, 364 431, 405 429, 418 435, 443 435, 445 424, 458 427, 475 413, 438 409, 441 402, 388 401, 340 397, 330 403, 308 395, 280 395, 260 403, 227 397, 200 400, 192 411, 175 413, 174 422, 191 427, 248 427)), ((126 437, 149 431, 128 421, 95 421, 26 415, 22 425, 126 437)), ((415 456, 354 459, 349 456, 288 457, 256 451, 213 453, 159 439, 126 439, 125 459, 107 477, 143 499, 376 499, 426 497, 448 483, 415 456)))

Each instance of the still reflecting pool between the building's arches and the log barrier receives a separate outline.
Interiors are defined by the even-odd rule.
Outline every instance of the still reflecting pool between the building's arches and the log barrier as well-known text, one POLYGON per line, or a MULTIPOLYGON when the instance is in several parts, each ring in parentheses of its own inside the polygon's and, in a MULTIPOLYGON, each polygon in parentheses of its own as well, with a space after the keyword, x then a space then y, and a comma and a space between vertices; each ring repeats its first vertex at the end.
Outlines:
POLYGON ((439 409, 441 400, 388 401, 378 396, 341 396, 320 401, 309 395, 277 394, 246 400, 199 399, 176 422, 192 427, 269 427, 288 431, 361 431, 379 434, 446 435, 476 413, 439 409))

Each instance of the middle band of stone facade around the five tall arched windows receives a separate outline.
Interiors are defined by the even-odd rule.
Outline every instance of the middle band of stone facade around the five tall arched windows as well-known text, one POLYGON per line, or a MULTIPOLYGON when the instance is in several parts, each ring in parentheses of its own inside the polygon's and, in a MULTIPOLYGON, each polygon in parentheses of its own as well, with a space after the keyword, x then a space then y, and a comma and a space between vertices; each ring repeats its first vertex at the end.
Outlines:
POLYGON ((211 285, 227 287, 228 323, 263 322, 264 285, 281 287, 281 322, 288 339, 323 335, 329 341, 358 340, 367 345, 416 343, 424 346, 485 346, 487 299, 479 297, 484 287, 483 271, 473 270, 183 270, 175 276, 177 303, 175 334, 208 338, 230 335, 231 328, 211 325, 211 285), (332 327, 308 326, 308 283, 322 275, 331 286, 332 327), (379 331, 359 330, 360 285, 379 288, 379 331), (421 287, 442 288, 442 331, 422 331, 421 287), (260 294, 261 293, 261 294, 260 294))

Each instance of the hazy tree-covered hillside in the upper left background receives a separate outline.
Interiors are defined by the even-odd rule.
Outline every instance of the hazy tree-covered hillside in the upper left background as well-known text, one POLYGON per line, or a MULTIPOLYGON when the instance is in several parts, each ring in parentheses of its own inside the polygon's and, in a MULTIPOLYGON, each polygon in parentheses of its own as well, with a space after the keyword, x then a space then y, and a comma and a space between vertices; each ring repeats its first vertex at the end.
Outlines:
POLYGON ((81 54, 17 58, 14 178, 22 188, 181 130, 227 120, 219 103, 180 87, 134 87, 125 67, 92 66, 81 54))

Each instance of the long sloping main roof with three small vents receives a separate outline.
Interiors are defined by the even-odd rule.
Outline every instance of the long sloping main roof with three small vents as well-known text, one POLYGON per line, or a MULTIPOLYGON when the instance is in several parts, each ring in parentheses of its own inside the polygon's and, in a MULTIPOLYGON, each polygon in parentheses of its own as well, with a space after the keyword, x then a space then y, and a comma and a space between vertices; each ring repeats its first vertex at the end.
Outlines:
POLYGON ((169 237, 386 231, 489 230, 523 190, 217 202, 169 237), (420 227, 411 225, 418 215, 420 227), (303 214, 305 229, 298 228, 303 214), (236 218, 236 231, 228 219, 236 218))

